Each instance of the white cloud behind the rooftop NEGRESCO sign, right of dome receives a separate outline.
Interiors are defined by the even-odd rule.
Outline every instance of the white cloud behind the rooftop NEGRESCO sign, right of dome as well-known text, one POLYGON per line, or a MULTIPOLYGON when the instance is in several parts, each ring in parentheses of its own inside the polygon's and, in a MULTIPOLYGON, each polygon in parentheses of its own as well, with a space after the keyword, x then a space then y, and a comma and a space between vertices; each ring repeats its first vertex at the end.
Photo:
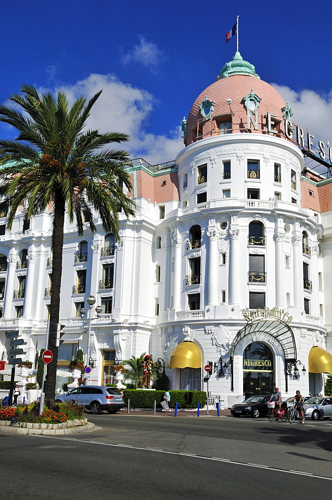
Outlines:
POLYGON ((332 91, 326 98, 314 90, 304 89, 295 92, 285 85, 272 84, 285 101, 289 102, 292 111, 292 121, 297 121, 305 131, 308 130, 319 140, 332 143, 332 91))

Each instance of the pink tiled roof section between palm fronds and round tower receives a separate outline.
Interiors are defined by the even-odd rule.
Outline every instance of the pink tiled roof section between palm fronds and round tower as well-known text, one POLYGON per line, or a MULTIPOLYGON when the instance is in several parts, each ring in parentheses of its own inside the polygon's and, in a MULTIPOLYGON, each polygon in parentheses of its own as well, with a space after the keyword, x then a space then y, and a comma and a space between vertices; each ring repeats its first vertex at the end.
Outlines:
POLYGON ((179 200, 177 172, 156 175, 155 177, 143 169, 136 170, 137 197, 150 199, 153 203, 179 200), (165 185, 162 185, 166 181, 165 185))

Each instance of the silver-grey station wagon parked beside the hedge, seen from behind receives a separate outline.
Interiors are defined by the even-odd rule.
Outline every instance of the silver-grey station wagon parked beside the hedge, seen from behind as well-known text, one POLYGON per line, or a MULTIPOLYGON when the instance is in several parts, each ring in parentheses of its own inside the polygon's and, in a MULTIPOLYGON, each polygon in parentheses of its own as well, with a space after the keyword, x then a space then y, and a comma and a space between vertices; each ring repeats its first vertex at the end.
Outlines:
POLYGON ((55 401, 76 401, 77 404, 85 406, 91 413, 100 414, 103 410, 108 413, 116 413, 124 406, 123 396, 116 387, 105 387, 103 385, 83 385, 68 393, 55 396, 55 401))

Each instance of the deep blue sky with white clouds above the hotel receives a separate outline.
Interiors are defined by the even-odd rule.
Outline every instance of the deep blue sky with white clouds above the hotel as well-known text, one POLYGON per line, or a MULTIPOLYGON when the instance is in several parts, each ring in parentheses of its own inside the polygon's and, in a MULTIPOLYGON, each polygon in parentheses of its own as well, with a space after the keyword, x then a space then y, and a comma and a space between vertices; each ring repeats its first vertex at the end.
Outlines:
POLYGON ((239 15, 241 55, 332 143, 330 13, 325 0, 3 0, 0 101, 22 83, 70 99, 103 88, 91 126, 130 133, 134 157, 171 160, 182 117, 234 55, 239 15))

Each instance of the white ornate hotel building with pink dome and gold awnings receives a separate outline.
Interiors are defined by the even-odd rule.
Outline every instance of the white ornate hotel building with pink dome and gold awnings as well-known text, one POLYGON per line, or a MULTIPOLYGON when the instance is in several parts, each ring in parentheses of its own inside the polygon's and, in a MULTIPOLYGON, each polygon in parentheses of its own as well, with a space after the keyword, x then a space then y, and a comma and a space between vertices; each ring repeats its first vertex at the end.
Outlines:
MULTIPOLYGON (((274 385, 283 395, 324 392, 332 178, 304 169, 288 122, 285 132, 291 115, 237 52, 183 120, 185 147, 174 162, 132 162, 128 196, 138 210, 131 220, 120 215, 120 243, 98 217, 98 232, 87 225, 83 238, 66 219, 59 369, 68 370, 78 348, 87 351, 79 310, 94 295, 102 313, 92 309, 87 383, 105 383, 114 359, 147 352, 165 360, 174 389, 206 390, 212 362, 209 390, 229 405, 274 385)), ((0 219, 1 359, 13 328, 27 341, 25 359, 35 362, 44 347, 51 215, 31 219, 25 233, 22 213, 9 232, 0 219)), ((58 377, 58 386, 67 380, 58 377)))

